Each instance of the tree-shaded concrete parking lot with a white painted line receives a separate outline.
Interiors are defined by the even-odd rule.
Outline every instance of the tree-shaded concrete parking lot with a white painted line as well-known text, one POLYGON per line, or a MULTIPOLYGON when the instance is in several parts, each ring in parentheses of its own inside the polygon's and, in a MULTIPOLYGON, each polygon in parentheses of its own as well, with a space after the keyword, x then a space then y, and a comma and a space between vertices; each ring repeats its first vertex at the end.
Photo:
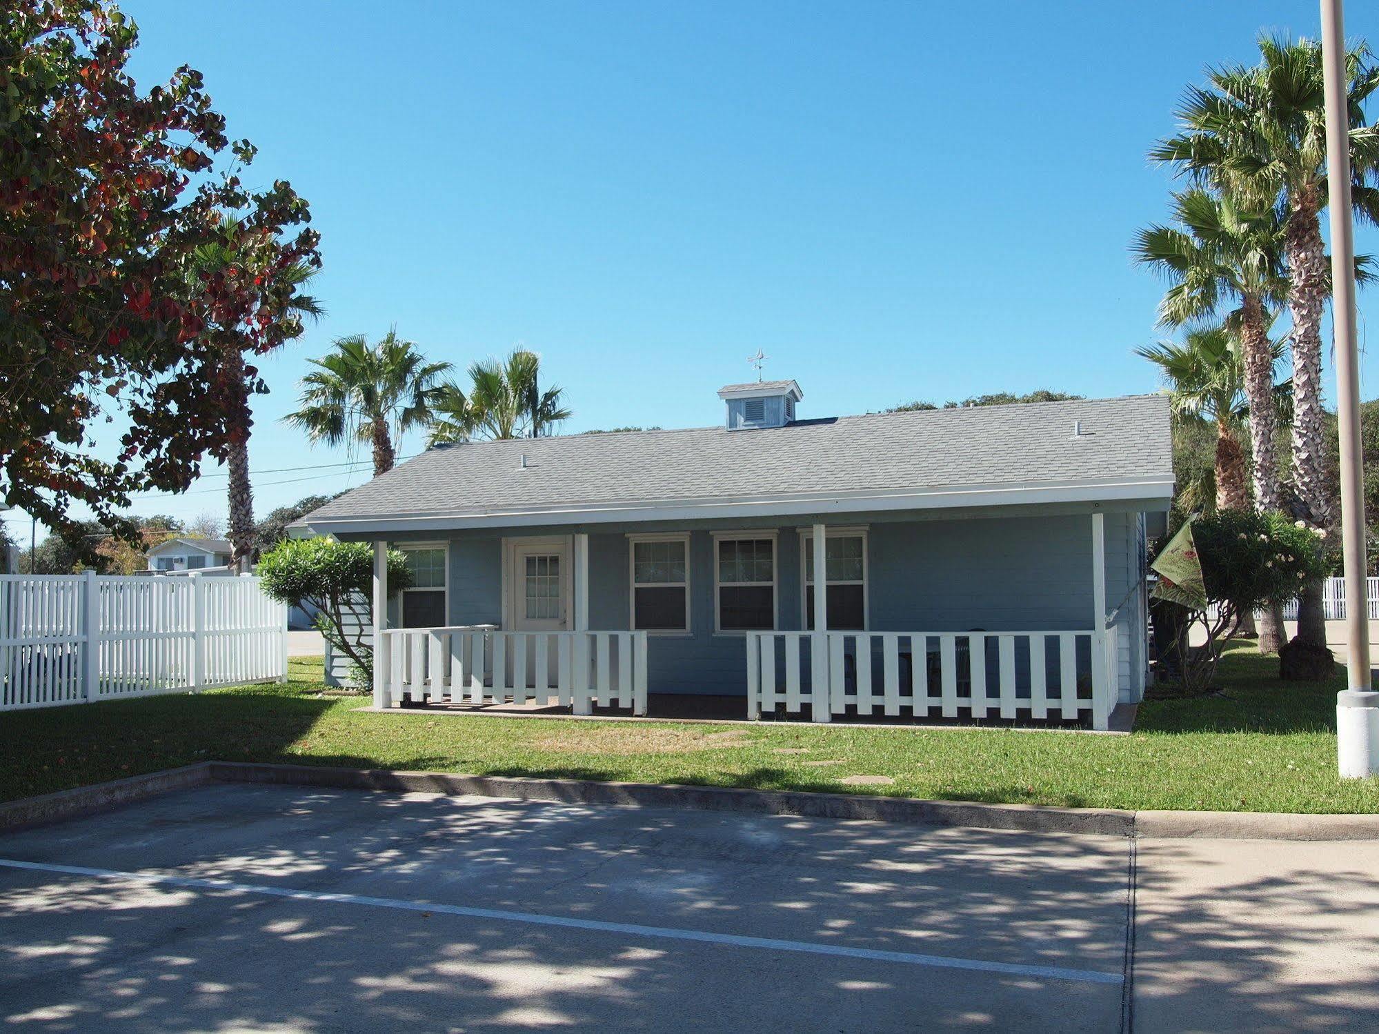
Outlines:
POLYGON ((1124 840, 218 786, 0 838, 0 1017, 73 1031, 1116 1031, 1131 1012, 1136 1030, 1379 1024, 1354 965, 1333 965, 1379 947, 1361 874, 1379 856, 1298 896, 1277 851, 1138 853, 1131 1011, 1124 840), (1350 906, 1314 917, 1317 893, 1350 906), (1287 946, 1267 913, 1306 933, 1287 946), (1277 993, 1280 979, 1294 983, 1277 993))

